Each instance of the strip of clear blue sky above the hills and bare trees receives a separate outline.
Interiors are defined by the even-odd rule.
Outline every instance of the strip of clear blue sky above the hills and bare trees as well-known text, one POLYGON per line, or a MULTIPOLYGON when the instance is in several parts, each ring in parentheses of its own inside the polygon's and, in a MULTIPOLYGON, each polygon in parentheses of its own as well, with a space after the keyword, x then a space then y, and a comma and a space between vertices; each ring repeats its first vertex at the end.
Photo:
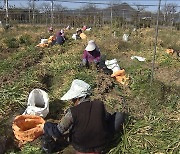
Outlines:
MULTIPOLYGON (((58 3, 58 4, 61 4, 62 6, 65 6, 67 8, 70 8, 70 9, 76 9, 76 8, 80 8, 80 7, 83 7, 85 5, 85 3, 72 3, 73 1, 81 1, 81 2, 91 2, 91 3, 107 3, 107 4, 110 4, 110 2, 127 2, 129 3, 130 5, 158 5, 158 0, 64 0, 64 1, 72 1, 71 3, 70 2, 60 2, 60 1, 63 1, 63 0, 59 0, 59 2, 55 2, 55 3, 58 3)), ((166 3, 175 3, 177 4, 179 7, 178 7, 178 11, 180 11, 180 0, 161 0, 161 4, 164 5, 166 3)), ((10 5, 15 5, 15 6, 18 6, 18 7, 27 7, 27 3, 28 3, 28 0, 19 0, 19 1, 16 1, 16 0, 9 0, 9 4, 10 5)), ((49 3, 50 2, 46 2, 46 3, 49 3)), ((3 4, 3 2, 1 1, 1 4, 3 4)), ((36 2, 37 5, 41 5, 42 4, 42 0, 40 0, 39 2, 36 2)), ((104 8, 104 7, 107 7, 108 5, 104 5, 104 4, 96 4, 96 6, 98 8, 104 8)), ((135 6, 134 6, 135 7, 135 6)), ((157 8, 158 6, 149 6, 147 7, 146 6, 146 10, 148 11, 157 11, 157 8)))

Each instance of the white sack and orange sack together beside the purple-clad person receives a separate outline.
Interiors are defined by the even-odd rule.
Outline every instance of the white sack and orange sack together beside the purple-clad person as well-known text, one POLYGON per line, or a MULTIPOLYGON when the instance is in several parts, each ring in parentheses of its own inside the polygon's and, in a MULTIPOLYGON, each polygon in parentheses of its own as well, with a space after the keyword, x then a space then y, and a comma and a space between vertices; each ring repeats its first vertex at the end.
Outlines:
POLYGON ((120 69, 116 59, 106 60, 105 64, 108 69, 111 69, 113 71, 113 74, 111 75, 111 77, 114 77, 116 79, 116 81, 118 81, 119 83, 121 83, 123 85, 125 85, 127 83, 126 81, 129 78, 126 77, 125 70, 120 69))

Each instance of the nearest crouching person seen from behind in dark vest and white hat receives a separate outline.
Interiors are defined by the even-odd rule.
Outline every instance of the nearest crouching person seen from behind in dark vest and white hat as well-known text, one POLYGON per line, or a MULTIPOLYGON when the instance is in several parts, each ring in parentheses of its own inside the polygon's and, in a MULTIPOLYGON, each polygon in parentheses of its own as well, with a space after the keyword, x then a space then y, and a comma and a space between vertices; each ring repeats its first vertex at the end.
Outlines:
POLYGON ((90 88, 90 85, 82 80, 75 79, 72 82, 71 88, 61 100, 70 100, 74 106, 69 108, 59 123, 45 123, 44 135, 48 139, 45 139, 44 150, 52 150, 50 143, 57 141, 69 130, 70 143, 76 154, 100 154, 110 138, 122 130, 125 114, 116 112, 111 115, 106 111, 103 102, 91 101, 90 88), (50 138, 51 141, 47 143, 50 138))

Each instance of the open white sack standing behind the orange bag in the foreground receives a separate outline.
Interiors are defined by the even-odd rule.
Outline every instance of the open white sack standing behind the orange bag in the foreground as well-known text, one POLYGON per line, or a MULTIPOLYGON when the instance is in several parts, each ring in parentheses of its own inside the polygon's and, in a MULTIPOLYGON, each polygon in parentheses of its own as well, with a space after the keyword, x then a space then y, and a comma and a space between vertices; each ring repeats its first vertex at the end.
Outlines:
POLYGON ((34 89, 30 92, 28 98, 28 107, 24 114, 37 115, 45 118, 49 113, 48 94, 41 89, 34 89))

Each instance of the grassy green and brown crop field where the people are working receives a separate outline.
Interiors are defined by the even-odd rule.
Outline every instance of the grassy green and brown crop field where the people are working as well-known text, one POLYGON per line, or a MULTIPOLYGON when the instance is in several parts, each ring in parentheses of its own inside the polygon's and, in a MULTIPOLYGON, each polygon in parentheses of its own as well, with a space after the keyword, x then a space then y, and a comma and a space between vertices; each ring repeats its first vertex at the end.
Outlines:
MULTIPOLYGON (((56 30, 61 27, 56 27, 56 30)), ((49 37, 47 27, 12 28, 0 35, 0 154, 42 153, 40 139, 21 148, 12 132, 16 115, 26 108, 28 95, 34 88, 45 90, 50 97, 50 112, 45 120, 58 121, 69 102, 60 101, 73 79, 81 79, 92 86, 92 99, 101 99, 109 112, 126 111, 129 120, 114 153, 179 153, 180 149, 180 57, 165 51, 180 50, 180 31, 159 31, 155 74, 150 86, 154 29, 138 29, 128 42, 122 41, 125 30, 109 27, 93 28, 85 32, 88 39, 72 40, 74 30, 67 31, 63 46, 35 47, 41 38, 49 37), (118 34, 113 37, 113 31, 118 34), (12 39, 13 38, 13 39, 12 39), (94 68, 80 68, 82 52, 87 41, 94 39, 106 59, 116 58, 129 76, 121 85, 110 75, 94 68), (132 60, 142 56, 145 62, 132 60)), ((61 153, 73 153, 72 147, 61 153)))

